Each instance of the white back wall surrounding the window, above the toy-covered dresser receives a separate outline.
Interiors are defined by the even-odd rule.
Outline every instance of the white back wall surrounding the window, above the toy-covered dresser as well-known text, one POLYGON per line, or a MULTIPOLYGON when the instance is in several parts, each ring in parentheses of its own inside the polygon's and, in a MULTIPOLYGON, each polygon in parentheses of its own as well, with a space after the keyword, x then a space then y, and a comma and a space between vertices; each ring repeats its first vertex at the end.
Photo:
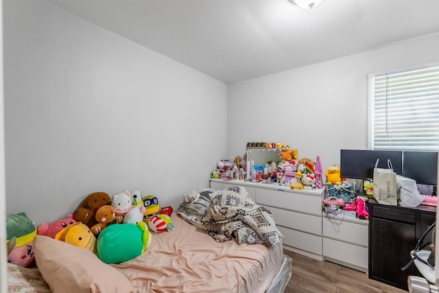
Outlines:
POLYGON ((229 84, 228 158, 249 141, 281 141, 320 156, 323 171, 340 165, 340 149, 367 149, 368 74, 438 62, 438 48, 436 34, 229 84))

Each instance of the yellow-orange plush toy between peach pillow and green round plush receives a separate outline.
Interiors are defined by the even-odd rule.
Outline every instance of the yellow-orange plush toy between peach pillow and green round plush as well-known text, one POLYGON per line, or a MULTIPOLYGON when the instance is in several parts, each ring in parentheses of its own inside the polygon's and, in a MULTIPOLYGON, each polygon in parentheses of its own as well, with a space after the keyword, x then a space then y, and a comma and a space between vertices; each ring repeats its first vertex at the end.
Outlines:
MULTIPOLYGON (((116 226, 116 225, 115 225, 116 226)), ((96 252, 96 237, 86 224, 76 222, 62 229, 55 239, 96 252)))

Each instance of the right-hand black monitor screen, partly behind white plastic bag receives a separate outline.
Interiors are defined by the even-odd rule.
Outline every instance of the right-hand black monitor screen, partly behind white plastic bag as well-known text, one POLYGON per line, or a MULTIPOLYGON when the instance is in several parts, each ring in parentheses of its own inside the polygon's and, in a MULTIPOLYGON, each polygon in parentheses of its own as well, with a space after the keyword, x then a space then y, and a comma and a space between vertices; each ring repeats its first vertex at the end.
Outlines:
POLYGON ((403 176, 418 184, 438 185, 437 152, 404 152, 403 176))

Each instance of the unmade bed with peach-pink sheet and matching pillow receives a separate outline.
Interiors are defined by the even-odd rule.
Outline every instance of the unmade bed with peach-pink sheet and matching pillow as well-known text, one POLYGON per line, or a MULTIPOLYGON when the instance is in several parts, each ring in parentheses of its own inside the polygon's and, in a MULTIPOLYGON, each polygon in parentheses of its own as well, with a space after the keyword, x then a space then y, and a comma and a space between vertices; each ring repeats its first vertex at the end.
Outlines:
POLYGON ((273 246, 217 240, 181 211, 171 214, 174 231, 153 235, 145 253, 119 264, 108 265, 89 250, 36 235, 38 269, 26 269, 32 270, 26 279, 14 268, 8 272, 8 289, 20 292, 19 282, 21 292, 283 292, 292 259, 283 255, 282 237, 273 246))

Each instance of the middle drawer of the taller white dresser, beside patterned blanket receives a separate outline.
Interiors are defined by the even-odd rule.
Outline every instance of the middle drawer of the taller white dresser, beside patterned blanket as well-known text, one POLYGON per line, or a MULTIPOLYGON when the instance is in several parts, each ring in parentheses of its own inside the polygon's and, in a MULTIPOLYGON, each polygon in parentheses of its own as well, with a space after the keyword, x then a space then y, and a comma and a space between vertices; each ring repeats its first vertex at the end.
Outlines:
POLYGON ((322 235, 322 218, 316 215, 296 213, 275 207, 268 207, 268 209, 273 212, 274 221, 278 225, 306 233, 322 235))

